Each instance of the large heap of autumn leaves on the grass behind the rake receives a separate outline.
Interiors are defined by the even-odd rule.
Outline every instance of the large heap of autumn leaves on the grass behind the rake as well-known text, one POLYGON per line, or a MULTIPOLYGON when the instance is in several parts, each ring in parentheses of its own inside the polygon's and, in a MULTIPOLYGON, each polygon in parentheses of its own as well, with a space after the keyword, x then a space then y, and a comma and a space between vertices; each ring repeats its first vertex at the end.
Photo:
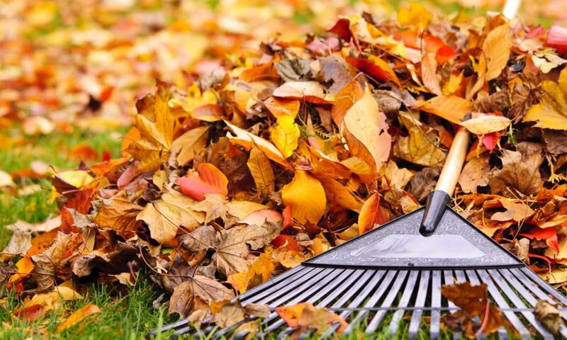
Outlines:
MULTIPOLYGON (((28 319, 142 268, 170 314, 264 314, 226 300, 418 208, 459 127, 474 137, 454 208, 562 283, 565 52, 566 28, 412 4, 397 21, 364 13, 266 40, 186 89, 157 81, 122 157, 53 174, 60 215, 11 226, 0 283, 28 319)), ((303 307, 291 324, 320 319, 303 307)))

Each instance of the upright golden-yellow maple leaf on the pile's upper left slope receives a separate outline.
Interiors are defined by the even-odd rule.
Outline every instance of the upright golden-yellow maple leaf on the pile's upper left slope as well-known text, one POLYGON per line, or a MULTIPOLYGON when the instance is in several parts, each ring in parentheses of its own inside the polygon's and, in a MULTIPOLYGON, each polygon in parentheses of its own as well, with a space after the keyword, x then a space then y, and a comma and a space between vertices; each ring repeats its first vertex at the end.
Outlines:
POLYGON ((136 128, 140 140, 131 142, 125 152, 140 162, 138 171, 150 171, 167 162, 172 152, 174 115, 169 108, 171 94, 167 84, 157 81, 156 94, 136 103, 136 128))

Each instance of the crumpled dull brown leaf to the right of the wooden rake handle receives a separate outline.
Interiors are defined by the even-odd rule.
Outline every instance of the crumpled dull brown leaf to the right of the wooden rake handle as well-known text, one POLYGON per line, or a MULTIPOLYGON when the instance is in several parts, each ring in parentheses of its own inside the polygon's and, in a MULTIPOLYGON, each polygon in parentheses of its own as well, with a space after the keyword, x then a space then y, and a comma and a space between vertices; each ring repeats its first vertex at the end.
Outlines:
POLYGON ((517 145, 517 151, 504 150, 500 159, 502 169, 494 168, 490 171, 489 185, 493 193, 505 193, 508 186, 525 195, 539 191, 539 166, 543 162, 541 145, 521 142, 517 145))

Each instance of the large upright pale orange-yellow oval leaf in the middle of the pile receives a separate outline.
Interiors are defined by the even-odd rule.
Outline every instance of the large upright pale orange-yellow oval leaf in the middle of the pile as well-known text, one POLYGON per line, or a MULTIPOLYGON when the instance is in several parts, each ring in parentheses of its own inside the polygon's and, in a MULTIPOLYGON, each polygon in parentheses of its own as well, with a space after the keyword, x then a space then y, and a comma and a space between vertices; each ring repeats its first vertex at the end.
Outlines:
POLYGON ((364 96, 354 103, 344 115, 343 123, 347 130, 370 152, 376 169, 388 161, 392 138, 388 135, 386 115, 378 110, 378 103, 370 93, 368 86, 366 86, 364 96))

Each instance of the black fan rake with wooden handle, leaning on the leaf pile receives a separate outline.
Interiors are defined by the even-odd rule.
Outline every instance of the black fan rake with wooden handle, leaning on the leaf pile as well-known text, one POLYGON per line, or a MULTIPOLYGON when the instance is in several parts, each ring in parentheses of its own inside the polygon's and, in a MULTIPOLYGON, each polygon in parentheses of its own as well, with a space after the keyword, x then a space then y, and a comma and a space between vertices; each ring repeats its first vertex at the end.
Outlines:
MULTIPOLYGON (((505 16, 515 16, 519 2, 507 1, 505 16)), ((403 327, 408 327, 408 337, 415 339, 422 324, 429 320, 429 335, 437 339, 442 315, 459 309, 442 297, 442 285, 485 283, 490 300, 500 307, 513 328, 498 329, 500 339, 514 337, 512 334, 520 334, 522 339, 537 334, 543 339, 554 339, 536 319, 534 307, 538 300, 545 300, 567 320, 566 297, 447 205, 464 164, 468 141, 468 132, 460 128, 425 208, 315 256, 236 299, 242 305, 262 303, 272 311, 299 302, 326 307, 349 322, 344 336, 361 328, 372 335, 384 326, 388 336, 395 336, 400 321, 406 318, 410 321, 403 327)), ((174 329, 172 337, 212 333, 214 339, 244 339, 248 332, 235 334, 235 329, 254 319, 249 317, 224 329, 216 329, 210 319, 196 329, 184 319, 161 331, 174 329)), ((331 325, 321 337, 332 336, 338 328, 339 324, 331 325)), ((264 339, 267 334, 278 334, 277 339, 283 339, 295 331, 286 327, 276 312, 262 319, 260 329, 257 339, 264 339)), ((312 331, 305 331, 300 339, 310 336, 312 331)), ((147 338, 157 333, 156 329, 147 338)), ((567 338, 563 325, 559 333, 567 338)))

